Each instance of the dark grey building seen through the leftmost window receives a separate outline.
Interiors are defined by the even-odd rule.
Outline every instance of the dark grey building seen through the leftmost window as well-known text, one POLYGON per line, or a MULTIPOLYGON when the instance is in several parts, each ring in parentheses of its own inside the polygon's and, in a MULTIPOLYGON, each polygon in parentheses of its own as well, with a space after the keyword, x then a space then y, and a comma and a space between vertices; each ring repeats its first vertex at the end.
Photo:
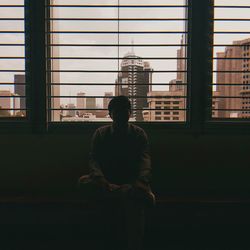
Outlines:
MULTIPOLYGON (((19 96, 26 96, 25 90, 25 75, 14 75, 14 93, 19 96)), ((17 99, 17 98, 16 98, 17 99)), ((20 109, 21 113, 25 114, 26 109, 26 98, 20 98, 20 109)))

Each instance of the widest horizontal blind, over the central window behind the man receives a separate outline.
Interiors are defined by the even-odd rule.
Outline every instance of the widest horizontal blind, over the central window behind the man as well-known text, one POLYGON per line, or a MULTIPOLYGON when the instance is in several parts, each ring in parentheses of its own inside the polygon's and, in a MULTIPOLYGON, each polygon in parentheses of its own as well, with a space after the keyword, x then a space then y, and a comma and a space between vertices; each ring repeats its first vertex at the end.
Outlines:
POLYGON ((131 121, 179 122, 187 113, 187 5, 178 0, 51 1, 51 121, 110 121, 126 95, 131 121))

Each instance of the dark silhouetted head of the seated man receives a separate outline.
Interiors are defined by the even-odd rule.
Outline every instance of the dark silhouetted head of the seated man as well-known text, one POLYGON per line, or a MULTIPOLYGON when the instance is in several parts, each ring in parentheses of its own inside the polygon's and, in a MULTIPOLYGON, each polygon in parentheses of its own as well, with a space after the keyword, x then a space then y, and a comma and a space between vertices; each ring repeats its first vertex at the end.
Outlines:
POLYGON ((109 102, 109 115, 120 126, 127 124, 131 115, 131 103, 126 96, 116 96, 109 102))

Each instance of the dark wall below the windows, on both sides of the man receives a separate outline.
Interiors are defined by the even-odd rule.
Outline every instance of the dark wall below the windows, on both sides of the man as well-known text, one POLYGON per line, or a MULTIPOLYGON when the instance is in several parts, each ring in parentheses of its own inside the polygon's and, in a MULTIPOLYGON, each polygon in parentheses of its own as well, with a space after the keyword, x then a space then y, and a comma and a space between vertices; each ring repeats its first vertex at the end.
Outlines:
MULTIPOLYGON (((0 135, 2 194, 66 194, 86 172, 93 131, 0 135)), ((153 189, 163 194, 250 191, 250 135, 201 135, 147 130, 153 189)))

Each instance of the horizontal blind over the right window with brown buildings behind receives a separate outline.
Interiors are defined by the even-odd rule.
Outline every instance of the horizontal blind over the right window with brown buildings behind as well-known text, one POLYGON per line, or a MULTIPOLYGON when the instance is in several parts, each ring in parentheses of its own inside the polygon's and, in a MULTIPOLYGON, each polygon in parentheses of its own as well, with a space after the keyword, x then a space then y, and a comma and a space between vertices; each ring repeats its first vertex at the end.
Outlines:
POLYGON ((249 12, 249 0, 214 0, 214 119, 250 118, 249 12))

